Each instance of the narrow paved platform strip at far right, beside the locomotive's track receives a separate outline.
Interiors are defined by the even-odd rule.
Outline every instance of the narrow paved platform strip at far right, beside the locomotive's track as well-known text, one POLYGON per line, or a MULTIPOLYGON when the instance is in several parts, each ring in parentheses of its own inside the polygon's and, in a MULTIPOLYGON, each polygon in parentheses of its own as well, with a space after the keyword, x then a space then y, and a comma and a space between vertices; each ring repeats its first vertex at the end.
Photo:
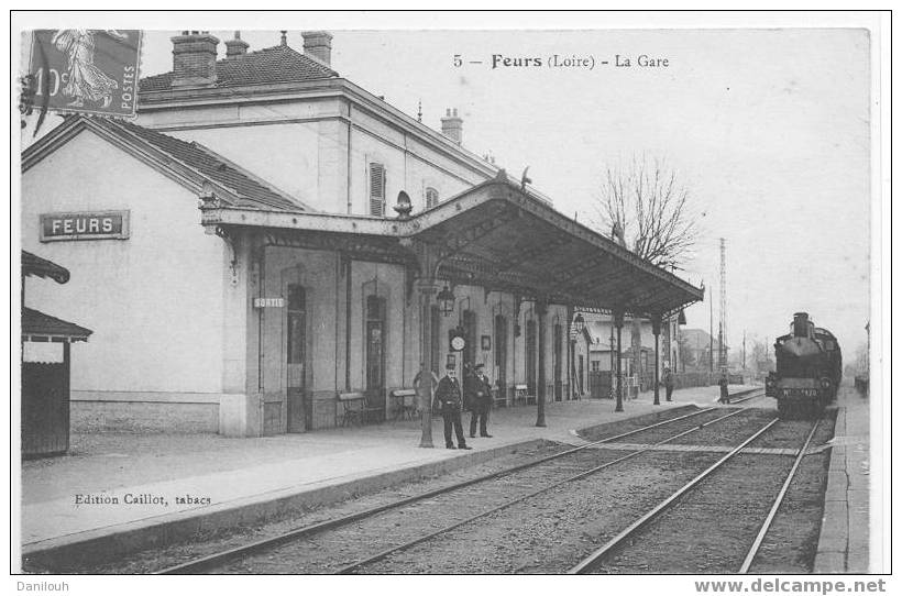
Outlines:
POLYGON ((850 386, 840 387, 836 406, 814 573, 868 573, 870 406, 850 386))

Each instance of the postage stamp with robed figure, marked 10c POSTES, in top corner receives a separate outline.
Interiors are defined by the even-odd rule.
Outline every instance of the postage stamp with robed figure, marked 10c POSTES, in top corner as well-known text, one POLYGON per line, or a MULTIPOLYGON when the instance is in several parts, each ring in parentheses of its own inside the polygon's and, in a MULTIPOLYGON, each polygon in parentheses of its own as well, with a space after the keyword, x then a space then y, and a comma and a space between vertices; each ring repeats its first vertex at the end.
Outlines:
POLYGON ((30 69, 35 107, 134 117, 140 56, 136 30, 37 30, 30 69))

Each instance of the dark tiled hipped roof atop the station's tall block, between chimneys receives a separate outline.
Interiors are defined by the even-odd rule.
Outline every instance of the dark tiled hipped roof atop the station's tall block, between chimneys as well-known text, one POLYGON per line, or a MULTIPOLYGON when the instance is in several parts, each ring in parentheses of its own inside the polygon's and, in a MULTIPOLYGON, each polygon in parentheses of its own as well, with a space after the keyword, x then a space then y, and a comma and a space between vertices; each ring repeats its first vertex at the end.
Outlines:
MULTIPOLYGON (((173 88, 174 73, 141 79, 141 91, 166 91, 173 88)), ((305 56, 288 45, 276 45, 216 63, 216 82, 211 87, 244 87, 275 82, 297 82, 338 77, 324 64, 305 56)))

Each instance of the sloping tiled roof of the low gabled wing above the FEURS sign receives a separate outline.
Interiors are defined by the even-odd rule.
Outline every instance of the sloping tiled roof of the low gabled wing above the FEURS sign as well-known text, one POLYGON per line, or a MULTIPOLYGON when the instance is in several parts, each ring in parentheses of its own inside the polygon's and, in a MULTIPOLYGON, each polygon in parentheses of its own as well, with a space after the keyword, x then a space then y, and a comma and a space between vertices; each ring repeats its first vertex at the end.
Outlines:
MULTIPOLYGON (((250 209, 309 210, 298 199, 270 185, 209 147, 183 141, 131 122, 107 118, 73 115, 22 152, 22 168, 29 169, 50 151, 62 146, 81 129, 90 129, 120 146, 135 150, 143 159, 173 174, 185 184, 186 176, 201 186, 209 181, 217 196, 235 207, 250 209)), ((198 188, 191 188, 198 190, 198 188)))

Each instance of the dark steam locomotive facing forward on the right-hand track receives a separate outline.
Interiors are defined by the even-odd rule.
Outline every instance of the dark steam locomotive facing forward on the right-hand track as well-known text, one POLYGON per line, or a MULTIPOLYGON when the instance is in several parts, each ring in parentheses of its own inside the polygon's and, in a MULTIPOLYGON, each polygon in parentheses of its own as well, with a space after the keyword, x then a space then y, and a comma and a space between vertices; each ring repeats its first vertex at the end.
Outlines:
POLYGON ((836 399, 843 379, 843 353, 836 336, 814 327, 807 312, 793 314, 790 333, 773 344, 777 371, 765 394, 777 398, 781 418, 820 416, 836 399))

